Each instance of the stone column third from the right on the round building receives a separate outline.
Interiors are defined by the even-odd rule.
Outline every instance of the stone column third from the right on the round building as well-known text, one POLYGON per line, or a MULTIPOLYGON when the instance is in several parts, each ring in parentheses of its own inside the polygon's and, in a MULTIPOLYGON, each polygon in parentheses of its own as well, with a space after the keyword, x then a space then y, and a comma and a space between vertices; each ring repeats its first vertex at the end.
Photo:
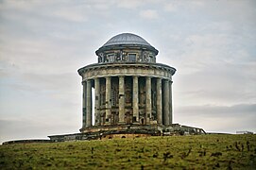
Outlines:
POLYGON ((162 125, 162 78, 157 79, 157 116, 158 125, 162 125))

